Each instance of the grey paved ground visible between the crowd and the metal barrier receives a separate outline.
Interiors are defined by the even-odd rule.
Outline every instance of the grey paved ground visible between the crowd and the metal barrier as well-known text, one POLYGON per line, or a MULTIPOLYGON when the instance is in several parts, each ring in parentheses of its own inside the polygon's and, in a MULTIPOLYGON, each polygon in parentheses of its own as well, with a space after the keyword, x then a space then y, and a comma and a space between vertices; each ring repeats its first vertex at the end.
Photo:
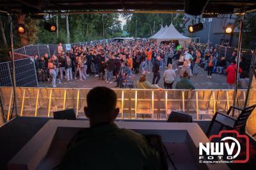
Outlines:
MULTIPOLYGON (((166 69, 166 68, 164 68, 166 69)), ((227 77, 225 75, 218 75, 213 74, 212 79, 207 79, 207 72, 204 71, 203 68, 198 68, 198 75, 191 76, 191 81, 194 82, 196 89, 227 89, 227 77)), ((161 79, 159 81, 159 87, 164 88, 163 85, 163 72, 164 70, 161 70, 161 79)), ((176 72, 177 77, 175 78, 175 82, 173 84, 173 87, 175 87, 175 84, 177 81, 179 81, 179 71, 176 72)), ((136 75, 135 82, 139 79, 140 74, 136 75)), ((147 80, 149 82, 152 82, 153 73, 147 74, 147 80)), ((115 80, 115 78, 114 78, 115 80)), ((39 82, 40 87, 50 88, 51 83, 50 82, 39 82)), ((84 81, 74 80, 73 81, 61 81, 60 84, 57 84, 57 88, 94 88, 96 86, 106 86, 109 88, 115 88, 116 82, 113 82, 112 84, 108 84, 105 81, 99 81, 98 77, 94 77, 94 75, 90 75, 87 77, 84 81)))

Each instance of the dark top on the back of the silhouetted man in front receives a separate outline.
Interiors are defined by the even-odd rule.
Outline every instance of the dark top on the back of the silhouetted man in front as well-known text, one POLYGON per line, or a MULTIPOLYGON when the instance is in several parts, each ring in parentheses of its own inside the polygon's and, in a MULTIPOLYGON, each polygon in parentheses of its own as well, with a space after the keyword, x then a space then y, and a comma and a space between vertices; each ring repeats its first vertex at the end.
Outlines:
POLYGON ((143 135, 115 123, 87 128, 68 148, 59 169, 161 169, 159 155, 143 135))

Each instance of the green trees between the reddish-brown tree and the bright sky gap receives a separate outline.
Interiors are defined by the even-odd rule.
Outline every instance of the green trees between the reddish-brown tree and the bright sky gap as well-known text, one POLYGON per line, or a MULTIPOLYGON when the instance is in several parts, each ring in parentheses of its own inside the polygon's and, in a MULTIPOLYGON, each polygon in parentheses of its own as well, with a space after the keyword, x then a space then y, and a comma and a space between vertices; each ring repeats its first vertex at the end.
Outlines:
MULTIPOLYGON (((51 16, 47 22, 56 22, 56 16, 51 16)), ((122 35, 121 23, 118 20, 118 13, 103 14, 104 38, 122 35)), ((102 14, 79 14, 68 15, 70 32, 70 43, 100 40, 103 38, 102 14)), ((67 22, 65 15, 58 17, 59 36, 44 29, 44 20, 38 24, 37 43, 67 43, 67 22)))

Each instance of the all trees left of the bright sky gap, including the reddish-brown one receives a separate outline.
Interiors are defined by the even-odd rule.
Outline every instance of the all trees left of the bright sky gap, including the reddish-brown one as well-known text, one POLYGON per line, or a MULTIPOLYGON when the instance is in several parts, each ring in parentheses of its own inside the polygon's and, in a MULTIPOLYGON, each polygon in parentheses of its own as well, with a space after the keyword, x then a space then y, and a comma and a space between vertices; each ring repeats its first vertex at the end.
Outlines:
MULTIPOLYGON (((56 23, 56 15, 46 16, 47 22, 56 23)), ((122 35, 121 22, 118 20, 118 13, 103 14, 104 23, 104 38, 119 37, 122 35)), ((10 50, 10 27, 8 16, 0 14, 0 19, 3 22, 4 36, 8 43, 8 47, 4 47, 3 36, 0 34, 0 61, 8 59, 8 50, 10 50)), ((51 43, 59 42, 67 43, 67 22, 66 15, 58 15, 58 36, 57 33, 51 33, 44 29, 45 20, 35 20, 26 16, 24 24, 26 26, 26 34, 23 38, 28 40, 28 44, 35 43, 51 43)), ((13 22, 13 45, 14 49, 21 47, 20 35, 16 31, 18 26, 17 15, 12 16, 13 22)), ((102 14, 81 14, 68 15, 70 43, 86 42, 91 40, 100 40, 103 38, 102 14)))

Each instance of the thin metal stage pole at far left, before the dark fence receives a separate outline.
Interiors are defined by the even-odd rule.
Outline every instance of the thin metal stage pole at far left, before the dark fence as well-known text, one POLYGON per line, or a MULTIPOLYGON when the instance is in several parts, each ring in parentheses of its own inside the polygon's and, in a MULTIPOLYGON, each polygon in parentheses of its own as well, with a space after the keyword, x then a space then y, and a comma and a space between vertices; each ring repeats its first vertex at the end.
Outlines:
POLYGON ((11 42, 11 50, 12 50, 12 86, 13 86, 13 99, 14 99, 14 109, 15 109, 15 116, 18 116, 18 109, 17 109, 17 98, 16 98, 16 77, 15 77, 15 63, 14 63, 14 54, 13 54, 13 33, 12 33, 12 16, 9 14, 9 23, 10 23, 10 42, 11 42))

